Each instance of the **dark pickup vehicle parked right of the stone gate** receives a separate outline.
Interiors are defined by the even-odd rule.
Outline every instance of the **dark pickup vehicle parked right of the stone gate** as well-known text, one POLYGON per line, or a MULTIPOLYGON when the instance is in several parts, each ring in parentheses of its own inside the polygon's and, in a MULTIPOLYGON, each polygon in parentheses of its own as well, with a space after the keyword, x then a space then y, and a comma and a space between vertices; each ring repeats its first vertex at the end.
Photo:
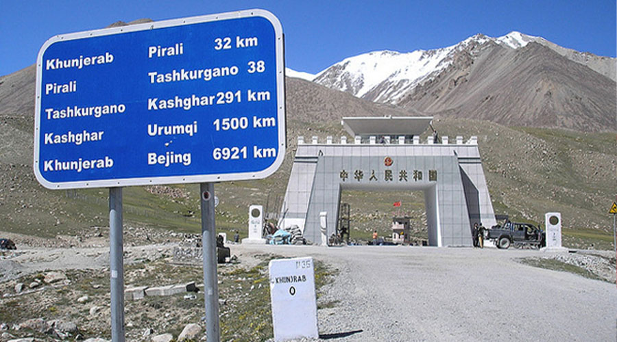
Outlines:
POLYGON ((505 223, 503 226, 498 224, 487 229, 486 239, 494 241, 497 248, 546 246, 546 233, 542 229, 529 223, 510 222, 507 215, 496 215, 496 218, 503 219, 505 223))

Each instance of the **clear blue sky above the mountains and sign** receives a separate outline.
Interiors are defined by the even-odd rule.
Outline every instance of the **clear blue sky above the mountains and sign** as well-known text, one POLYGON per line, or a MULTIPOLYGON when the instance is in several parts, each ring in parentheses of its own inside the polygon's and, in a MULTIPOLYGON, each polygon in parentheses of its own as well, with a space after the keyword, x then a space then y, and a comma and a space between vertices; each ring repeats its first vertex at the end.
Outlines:
POLYGON ((56 34, 115 21, 155 21, 263 8, 285 32, 287 67, 317 73, 376 50, 409 52, 477 33, 520 31, 596 55, 616 55, 616 1, 53 1, 0 0, 0 75, 34 64, 56 34))

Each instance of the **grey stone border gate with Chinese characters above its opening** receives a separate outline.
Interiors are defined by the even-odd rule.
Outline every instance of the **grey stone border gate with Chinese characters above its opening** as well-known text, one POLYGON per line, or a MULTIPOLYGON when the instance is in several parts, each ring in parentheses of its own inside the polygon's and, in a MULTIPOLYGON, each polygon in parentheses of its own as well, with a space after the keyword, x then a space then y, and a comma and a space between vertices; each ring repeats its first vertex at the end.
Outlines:
POLYGON ((304 238, 319 244, 319 213, 326 235, 336 233, 341 191, 422 191, 429 246, 472 246, 472 225, 496 223, 482 168, 477 137, 450 141, 428 136, 432 117, 343 118, 353 137, 305 142, 298 149, 278 226, 298 225, 304 238))

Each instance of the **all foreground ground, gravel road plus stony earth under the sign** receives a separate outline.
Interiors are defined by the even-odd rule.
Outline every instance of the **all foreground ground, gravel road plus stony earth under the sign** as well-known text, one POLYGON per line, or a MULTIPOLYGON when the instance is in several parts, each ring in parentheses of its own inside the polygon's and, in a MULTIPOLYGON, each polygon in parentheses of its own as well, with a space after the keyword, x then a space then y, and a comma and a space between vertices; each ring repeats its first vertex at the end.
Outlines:
MULTIPOLYGON (((173 248, 182 235, 126 236, 126 287, 202 282, 201 265, 173 264, 173 248), (136 244, 143 241, 152 244, 136 244)), ((18 238, 19 250, 0 253, 0 303, 9 308, 0 314, 0 334, 23 336, 26 331, 37 341, 59 341, 63 330, 40 332, 31 320, 45 319, 49 327, 52 319, 63 319, 75 323, 82 337, 108 338, 106 237, 66 237, 64 248, 49 247, 60 239, 18 238), (44 278, 51 271, 66 278, 47 284, 44 278), (31 289, 32 282, 40 285, 31 289), (23 289, 17 293, 20 283, 23 289), (80 301, 84 296, 88 299, 80 301)), ((318 295, 324 341, 613 341, 617 336, 614 282, 520 262, 566 260, 568 252, 403 246, 230 248, 239 263, 219 266, 221 322, 225 322, 221 326, 227 334, 223 341, 271 338, 271 326, 261 323, 271 315, 265 256, 275 255, 311 256, 335 275, 318 295), (252 307, 254 298, 261 298, 263 306, 252 307), (242 309, 241 315, 232 316, 242 309), (249 328, 241 331, 241 326, 249 328)), ((609 258, 609 252, 605 254, 609 258)), ((188 294, 189 298, 126 301, 128 340, 149 341, 163 332, 176 337, 185 324, 199 322, 203 295, 188 294)), ((8 336, 0 336, 0 341, 8 341, 8 336)))

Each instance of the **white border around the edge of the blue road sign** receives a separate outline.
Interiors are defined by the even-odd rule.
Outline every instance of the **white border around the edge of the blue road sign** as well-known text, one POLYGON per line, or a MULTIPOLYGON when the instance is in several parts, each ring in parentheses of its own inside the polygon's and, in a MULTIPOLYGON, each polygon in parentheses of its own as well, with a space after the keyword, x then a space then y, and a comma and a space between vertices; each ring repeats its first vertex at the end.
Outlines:
POLYGON ((226 12, 220 14, 209 14, 205 16, 192 16, 189 18, 178 18, 167 21, 154 21, 151 23, 135 24, 122 27, 112 27, 108 29, 97 29, 93 31, 75 32, 72 34, 59 34, 49 38, 38 51, 36 57, 36 98, 34 105, 34 175, 38 183, 47 189, 82 189, 96 187, 124 187, 136 185, 162 185, 162 184, 182 184, 182 183, 206 183, 220 181, 244 181, 249 179, 263 179, 278 170, 283 159, 285 159, 285 149, 287 147, 287 136, 285 128, 285 58, 284 36, 282 26, 278 18, 267 10, 241 10, 237 12, 226 12), (42 75, 43 75, 43 55, 51 44, 64 42, 67 40, 77 40, 82 38, 93 38, 99 36, 111 36, 134 31, 147 31, 149 29, 160 29, 180 25, 190 25, 196 23, 206 23, 210 21, 224 21, 234 18, 248 18, 261 16, 266 18, 274 27, 276 36, 276 98, 277 98, 277 119, 278 119, 278 155, 268 168, 257 172, 236 172, 224 174, 194 174, 189 176, 160 176, 160 177, 135 177, 125 179, 101 179, 95 181, 69 181, 69 182, 50 182, 40 174, 40 96, 42 94, 42 75))

